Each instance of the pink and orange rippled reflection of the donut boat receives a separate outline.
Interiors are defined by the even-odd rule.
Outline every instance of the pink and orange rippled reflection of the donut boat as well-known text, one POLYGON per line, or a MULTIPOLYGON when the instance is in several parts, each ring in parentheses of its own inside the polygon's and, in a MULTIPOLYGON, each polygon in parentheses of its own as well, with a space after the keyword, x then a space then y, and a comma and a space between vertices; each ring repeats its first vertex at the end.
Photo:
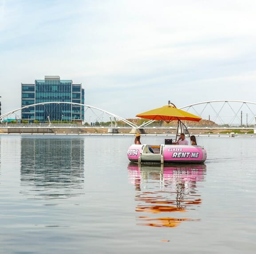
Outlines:
POLYGON ((200 207, 197 182, 204 180, 205 172, 205 164, 129 164, 129 180, 135 186, 138 202, 135 210, 142 213, 138 225, 177 227, 182 221, 200 220, 184 217, 184 212, 200 207))

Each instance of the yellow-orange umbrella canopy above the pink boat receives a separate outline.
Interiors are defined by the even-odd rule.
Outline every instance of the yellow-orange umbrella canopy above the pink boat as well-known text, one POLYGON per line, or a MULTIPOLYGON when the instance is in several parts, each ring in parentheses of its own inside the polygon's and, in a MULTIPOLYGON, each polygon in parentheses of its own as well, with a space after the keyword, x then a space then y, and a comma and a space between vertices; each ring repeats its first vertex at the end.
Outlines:
POLYGON ((163 120, 167 123, 177 120, 188 120, 188 121, 200 121, 201 117, 197 115, 190 114, 181 109, 175 107, 175 105, 166 105, 161 108, 155 108, 150 111, 136 115, 141 118, 151 119, 151 120, 163 120))

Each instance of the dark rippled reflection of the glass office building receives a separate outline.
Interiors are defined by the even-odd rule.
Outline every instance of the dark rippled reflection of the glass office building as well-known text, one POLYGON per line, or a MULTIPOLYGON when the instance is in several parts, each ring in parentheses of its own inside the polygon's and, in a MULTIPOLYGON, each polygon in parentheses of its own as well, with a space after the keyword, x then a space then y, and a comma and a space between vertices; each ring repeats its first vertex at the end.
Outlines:
POLYGON ((25 195, 33 198, 67 198, 83 189, 84 141, 63 138, 22 138, 21 169, 25 195))

